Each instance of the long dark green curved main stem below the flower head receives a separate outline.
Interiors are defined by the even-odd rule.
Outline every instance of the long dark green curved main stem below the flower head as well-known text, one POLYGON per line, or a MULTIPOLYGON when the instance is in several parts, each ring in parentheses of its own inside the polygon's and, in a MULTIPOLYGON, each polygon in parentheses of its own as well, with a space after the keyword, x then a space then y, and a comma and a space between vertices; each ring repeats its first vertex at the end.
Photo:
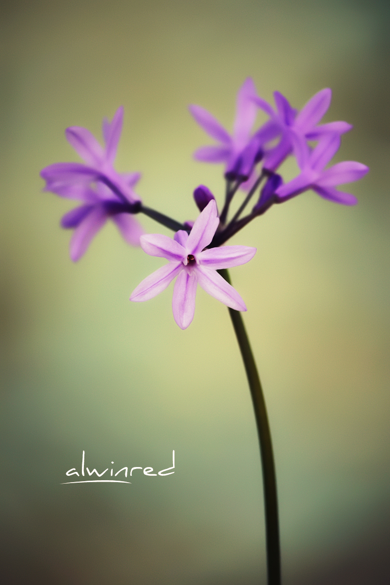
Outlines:
MULTIPOLYGON (((219 274, 230 284, 229 273, 226 269, 219 270, 219 274)), ((229 308, 234 332, 239 342, 243 358, 250 393, 256 417, 258 439, 260 442, 261 466, 263 468, 264 507, 265 507, 265 538, 267 542, 267 574, 268 585, 280 585, 281 563, 279 545, 278 499, 274 455, 272 452, 270 425, 268 424, 267 409, 256 363, 250 347, 244 322, 239 311, 229 308)))

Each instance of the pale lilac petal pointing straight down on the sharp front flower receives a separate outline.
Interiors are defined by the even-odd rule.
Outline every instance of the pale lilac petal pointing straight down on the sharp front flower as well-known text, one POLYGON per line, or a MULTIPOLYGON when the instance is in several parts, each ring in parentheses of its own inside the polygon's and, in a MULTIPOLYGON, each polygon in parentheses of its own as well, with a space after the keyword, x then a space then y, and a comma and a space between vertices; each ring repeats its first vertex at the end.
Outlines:
POLYGON ((172 312, 181 329, 187 329, 194 319, 197 285, 195 270, 191 272, 182 270, 176 279, 172 296, 172 312))

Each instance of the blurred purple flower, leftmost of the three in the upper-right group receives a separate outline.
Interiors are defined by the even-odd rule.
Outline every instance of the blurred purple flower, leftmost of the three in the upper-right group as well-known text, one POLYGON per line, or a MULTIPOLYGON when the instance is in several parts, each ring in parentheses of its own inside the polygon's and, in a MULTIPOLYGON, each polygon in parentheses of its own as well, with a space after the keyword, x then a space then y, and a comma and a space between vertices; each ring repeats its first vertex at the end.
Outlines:
POLYGON ((225 176, 231 180, 248 179, 254 164, 262 155, 258 140, 251 139, 251 129, 257 115, 254 102, 256 95, 253 80, 248 77, 237 94, 236 119, 232 136, 208 111, 200 106, 189 106, 189 111, 195 121, 209 136, 219 142, 218 146, 203 146, 196 150, 195 159, 206 163, 225 163, 225 176))

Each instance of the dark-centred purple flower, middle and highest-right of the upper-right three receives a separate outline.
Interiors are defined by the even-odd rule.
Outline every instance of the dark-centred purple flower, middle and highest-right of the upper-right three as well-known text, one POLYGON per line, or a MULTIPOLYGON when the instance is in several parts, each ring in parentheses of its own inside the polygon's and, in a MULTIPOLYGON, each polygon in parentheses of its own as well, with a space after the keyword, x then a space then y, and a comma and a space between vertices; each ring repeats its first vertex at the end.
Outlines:
MULTIPOLYGON (((291 154, 295 136, 306 140, 318 140, 329 133, 340 136, 352 128, 347 122, 330 122, 316 126, 329 108, 332 99, 332 90, 329 88, 313 95, 298 114, 284 95, 278 91, 274 92, 274 99, 276 111, 263 98, 257 96, 254 100, 271 118, 258 131, 259 136, 261 133, 265 135, 265 130, 272 138, 281 133, 281 139, 277 146, 265 149, 264 168, 268 170, 274 171, 288 154, 291 154), (274 136, 272 136, 272 132, 274 132, 274 136)), ((264 139, 262 142, 264 144, 264 139)))

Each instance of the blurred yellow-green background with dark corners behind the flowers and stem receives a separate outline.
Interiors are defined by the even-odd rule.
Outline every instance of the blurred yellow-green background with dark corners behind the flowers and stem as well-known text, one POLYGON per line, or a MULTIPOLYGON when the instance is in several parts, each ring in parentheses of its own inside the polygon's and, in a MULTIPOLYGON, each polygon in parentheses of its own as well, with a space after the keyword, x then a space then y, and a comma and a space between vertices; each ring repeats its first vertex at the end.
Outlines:
MULTIPOLYGON (((191 103, 232 128, 251 75, 301 106, 333 89, 353 123, 337 160, 371 172, 354 208, 313 192, 234 243, 231 270, 263 380, 277 464, 285 585, 390 581, 389 13, 386 2, 37 0, 1 3, 1 554, 6 584, 265 583, 256 428, 226 307, 198 291, 181 331, 171 287, 129 294, 161 259, 113 224, 73 264, 39 171, 78 160, 70 125, 101 138, 125 106, 117 168, 150 207, 194 219, 222 201, 222 167, 191 103), (128 484, 60 485, 65 472, 170 466, 128 484)), ((287 164, 285 177, 294 176, 287 164)), ((147 218, 149 232, 168 233, 147 218)), ((76 478, 77 479, 77 478, 76 478)))

